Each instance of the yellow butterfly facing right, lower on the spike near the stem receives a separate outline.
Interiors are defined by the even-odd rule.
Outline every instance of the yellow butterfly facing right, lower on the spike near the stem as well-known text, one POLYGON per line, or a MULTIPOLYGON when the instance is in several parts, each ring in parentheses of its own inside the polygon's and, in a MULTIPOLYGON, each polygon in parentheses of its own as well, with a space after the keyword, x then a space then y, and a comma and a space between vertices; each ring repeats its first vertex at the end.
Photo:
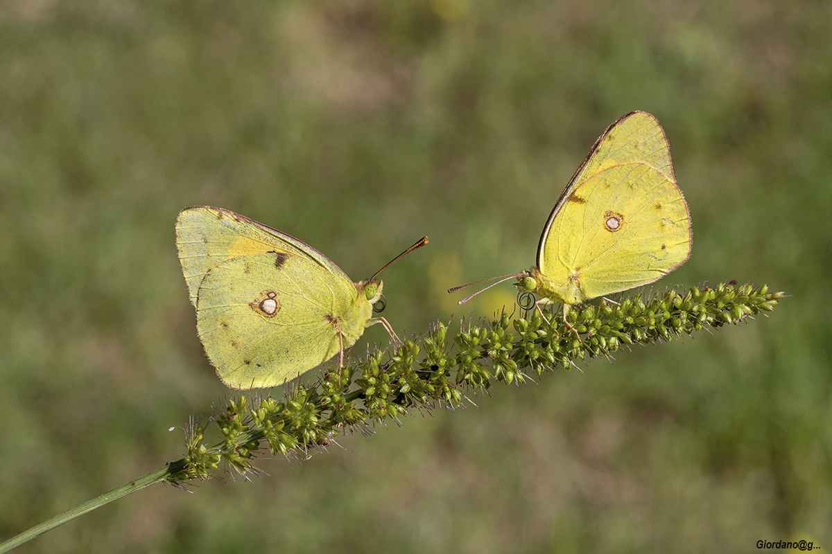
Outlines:
POLYGON ((424 237, 366 281, 352 282, 327 257, 286 233, 223 208, 176 218, 176 248, 196 307, 196 330, 225 385, 281 385, 353 346, 381 323, 379 273, 428 243, 424 237))

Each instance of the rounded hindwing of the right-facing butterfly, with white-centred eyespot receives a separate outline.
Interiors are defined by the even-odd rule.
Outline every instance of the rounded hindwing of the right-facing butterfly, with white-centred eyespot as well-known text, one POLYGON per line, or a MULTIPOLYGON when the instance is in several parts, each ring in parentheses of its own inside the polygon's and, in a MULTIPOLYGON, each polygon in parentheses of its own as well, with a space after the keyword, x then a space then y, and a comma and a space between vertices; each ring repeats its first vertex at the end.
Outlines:
POLYGON ((309 258, 269 252, 210 269, 196 328, 220 379, 235 389, 280 385, 339 351, 337 319, 354 316, 352 282, 309 258))

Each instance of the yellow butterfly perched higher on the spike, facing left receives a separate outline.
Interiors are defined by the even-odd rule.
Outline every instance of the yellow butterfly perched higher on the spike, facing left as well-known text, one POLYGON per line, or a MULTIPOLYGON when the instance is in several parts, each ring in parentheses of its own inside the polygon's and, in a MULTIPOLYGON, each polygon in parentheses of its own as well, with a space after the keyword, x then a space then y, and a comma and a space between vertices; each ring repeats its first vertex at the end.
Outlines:
POLYGON ((516 277, 519 290, 542 297, 541 316, 540 304, 558 302, 566 322, 569 306, 664 277, 691 257, 692 244, 665 132, 656 117, 634 111, 607 127, 557 199, 537 267, 493 277, 501 280, 483 291, 516 277))

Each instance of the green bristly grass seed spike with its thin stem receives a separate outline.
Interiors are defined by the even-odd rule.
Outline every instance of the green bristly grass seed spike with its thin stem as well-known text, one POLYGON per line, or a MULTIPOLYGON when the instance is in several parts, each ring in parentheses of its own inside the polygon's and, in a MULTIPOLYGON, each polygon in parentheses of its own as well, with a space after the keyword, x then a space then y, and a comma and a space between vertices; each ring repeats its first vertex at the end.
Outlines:
POLYGON ((602 299, 569 311, 567 321, 550 312, 551 324, 528 302, 523 305, 531 310, 514 306, 514 311, 503 311, 492 321, 463 321, 456 332, 436 323, 389 353, 369 351, 359 360, 344 360, 341 370, 337 364, 330 366, 313 385, 290 385, 282 400, 260 393, 230 398, 208 422, 219 429, 219 444, 206 446, 208 424, 191 419, 184 458, 2 542, 0 554, 154 483, 186 488, 213 477, 223 464, 248 478, 258 472, 252 460, 259 454, 309 458, 334 444, 340 434, 369 434, 374 424, 402 424, 414 411, 439 405, 473 404, 468 395, 486 392, 497 383, 522 384, 532 373, 568 370, 577 361, 633 345, 743 323, 772 311, 784 296, 768 292, 765 285, 730 282, 646 298, 623 297, 620 302, 602 299))

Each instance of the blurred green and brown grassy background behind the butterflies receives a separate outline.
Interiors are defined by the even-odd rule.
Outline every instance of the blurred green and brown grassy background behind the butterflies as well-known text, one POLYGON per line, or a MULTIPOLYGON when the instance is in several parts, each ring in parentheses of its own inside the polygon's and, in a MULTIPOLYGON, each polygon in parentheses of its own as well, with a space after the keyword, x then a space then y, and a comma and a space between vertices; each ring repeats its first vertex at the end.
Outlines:
POLYGON ((638 109, 695 237, 654 287, 769 283, 794 295, 770 317, 260 459, 253 483, 156 485, 19 552, 832 548, 830 28, 809 1, 2 2, 0 538, 180 458, 168 428, 230 395, 181 208, 355 280, 428 234, 385 272, 384 315, 455 326, 513 289, 444 290, 532 265, 592 142, 638 109))

